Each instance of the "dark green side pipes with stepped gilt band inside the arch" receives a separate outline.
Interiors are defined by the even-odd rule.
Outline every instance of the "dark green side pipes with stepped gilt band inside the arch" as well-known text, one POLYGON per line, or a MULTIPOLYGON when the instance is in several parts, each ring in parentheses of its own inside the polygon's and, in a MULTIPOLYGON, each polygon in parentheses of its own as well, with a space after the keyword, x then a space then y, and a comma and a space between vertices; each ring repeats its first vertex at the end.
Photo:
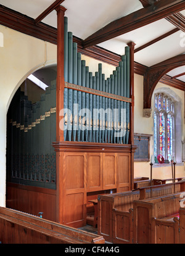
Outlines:
POLYGON ((7 114, 8 181, 55 189, 56 83, 32 104, 20 88, 7 114))

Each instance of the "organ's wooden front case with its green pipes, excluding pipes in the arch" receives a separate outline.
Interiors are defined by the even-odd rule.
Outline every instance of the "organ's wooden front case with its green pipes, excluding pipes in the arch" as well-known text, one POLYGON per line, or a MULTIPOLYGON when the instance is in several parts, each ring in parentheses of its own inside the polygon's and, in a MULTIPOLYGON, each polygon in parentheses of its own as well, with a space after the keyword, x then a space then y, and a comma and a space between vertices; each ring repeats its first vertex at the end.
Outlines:
POLYGON ((57 9, 57 221, 77 228, 90 199, 133 188, 134 43, 109 78, 101 64, 92 74, 64 12, 57 9))

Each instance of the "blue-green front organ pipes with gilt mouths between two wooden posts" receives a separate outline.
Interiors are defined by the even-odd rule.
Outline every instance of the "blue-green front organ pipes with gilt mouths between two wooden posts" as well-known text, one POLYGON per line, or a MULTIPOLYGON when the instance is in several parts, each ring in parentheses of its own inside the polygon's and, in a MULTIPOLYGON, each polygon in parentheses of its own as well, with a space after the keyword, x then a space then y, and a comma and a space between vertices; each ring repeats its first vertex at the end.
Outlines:
POLYGON ((105 79, 102 64, 92 75, 64 19, 64 140, 128 144, 130 47, 125 47, 125 55, 109 78, 105 79))

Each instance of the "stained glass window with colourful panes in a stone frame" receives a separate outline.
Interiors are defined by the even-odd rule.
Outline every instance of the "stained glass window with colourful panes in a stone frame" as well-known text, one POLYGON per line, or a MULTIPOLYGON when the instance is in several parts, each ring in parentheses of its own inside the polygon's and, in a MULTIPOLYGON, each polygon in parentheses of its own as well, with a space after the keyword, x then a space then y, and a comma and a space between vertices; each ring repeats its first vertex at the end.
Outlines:
POLYGON ((171 160, 174 148, 174 103, 164 94, 155 94, 154 155, 171 160))

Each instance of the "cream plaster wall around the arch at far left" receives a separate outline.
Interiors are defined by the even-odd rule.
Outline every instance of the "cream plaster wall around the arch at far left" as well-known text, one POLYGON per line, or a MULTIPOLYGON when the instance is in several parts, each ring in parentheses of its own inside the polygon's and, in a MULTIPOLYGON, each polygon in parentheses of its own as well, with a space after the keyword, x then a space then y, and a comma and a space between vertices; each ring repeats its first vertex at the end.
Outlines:
POLYGON ((6 114, 15 91, 28 75, 56 64, 57 46, 0 25, 0 206, 6 205, 6 114))

